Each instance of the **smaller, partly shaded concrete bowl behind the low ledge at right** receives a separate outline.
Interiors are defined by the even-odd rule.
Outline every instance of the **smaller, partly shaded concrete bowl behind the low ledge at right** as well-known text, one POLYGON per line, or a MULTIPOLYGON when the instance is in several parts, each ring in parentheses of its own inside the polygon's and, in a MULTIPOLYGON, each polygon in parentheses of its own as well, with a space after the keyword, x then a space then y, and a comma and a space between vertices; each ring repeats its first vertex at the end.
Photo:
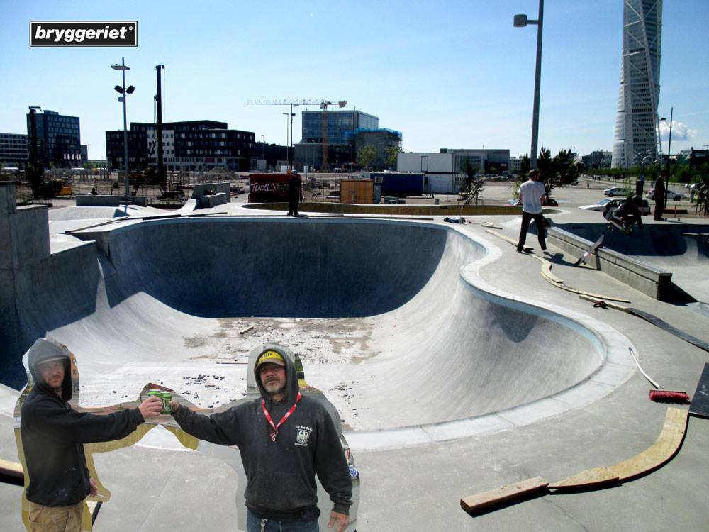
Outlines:
POLYGON ((672 282, 684 292, 698 301, 709 301, 709 225, 652 223, 632 235, 608 231, 605 223, 567 223, 557 227, 591 242, 603 234, 604 248, 671 272, 672 282))

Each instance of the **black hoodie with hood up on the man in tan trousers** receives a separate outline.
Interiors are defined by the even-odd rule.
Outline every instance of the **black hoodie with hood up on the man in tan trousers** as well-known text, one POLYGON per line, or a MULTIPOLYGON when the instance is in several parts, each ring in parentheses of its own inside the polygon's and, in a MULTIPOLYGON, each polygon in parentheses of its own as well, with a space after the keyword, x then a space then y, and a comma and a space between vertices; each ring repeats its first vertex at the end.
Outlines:
POLYGON ((20 419, 29 477, 25 497, 43 506, 71 506, 91 491, 82 444, 125 438, 143 423, 143 416, 138 409, 107 416, 72 409, 69 351, 54 340, 37 340, 29 350, 28 365, 35 385, 22 405, 20 419), (45 384, 38 368, 40 362, 57 358, 64 362, 62 397, 45 384))

